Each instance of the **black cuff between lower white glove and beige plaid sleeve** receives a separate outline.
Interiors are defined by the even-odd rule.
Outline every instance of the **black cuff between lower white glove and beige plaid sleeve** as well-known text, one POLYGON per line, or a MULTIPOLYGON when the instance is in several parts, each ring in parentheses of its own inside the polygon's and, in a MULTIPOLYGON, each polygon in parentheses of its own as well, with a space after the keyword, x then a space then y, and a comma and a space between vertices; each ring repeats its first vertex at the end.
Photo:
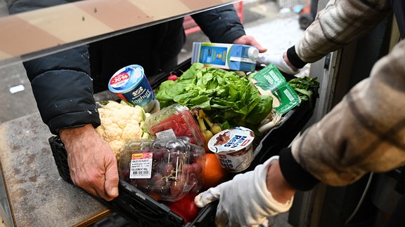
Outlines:
POLYGON ((307 170, 304 170, 304 168, 295 161, 290 148, 285 148, 280 151, 278 161, 284 179, 295 189, 309 191, 319 183, 318 179, 307 172, 307 170))

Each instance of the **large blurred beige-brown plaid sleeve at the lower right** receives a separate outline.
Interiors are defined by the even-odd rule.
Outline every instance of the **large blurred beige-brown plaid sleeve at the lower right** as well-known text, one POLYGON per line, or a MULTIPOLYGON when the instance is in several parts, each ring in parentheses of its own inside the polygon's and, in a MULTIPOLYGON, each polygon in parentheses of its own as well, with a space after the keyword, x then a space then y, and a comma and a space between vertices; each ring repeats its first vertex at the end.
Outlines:
POLYGON ((293 156, 305 170, 326 184, 344 186, 367 172, 405 164, 404 59, 401 41, 293 144, 293 156))

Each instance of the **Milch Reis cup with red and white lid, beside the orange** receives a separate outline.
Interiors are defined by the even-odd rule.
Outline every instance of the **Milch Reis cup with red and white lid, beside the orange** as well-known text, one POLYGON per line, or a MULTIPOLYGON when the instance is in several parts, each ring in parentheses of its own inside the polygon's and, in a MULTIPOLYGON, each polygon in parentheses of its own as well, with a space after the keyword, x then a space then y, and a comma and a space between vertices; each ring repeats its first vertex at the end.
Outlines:
POLYGON ((221 167, 228 172, 246 170, 253 160, 255 133, 243 127, 231 128, 214 135, 208 149, 217 156, 221 167))

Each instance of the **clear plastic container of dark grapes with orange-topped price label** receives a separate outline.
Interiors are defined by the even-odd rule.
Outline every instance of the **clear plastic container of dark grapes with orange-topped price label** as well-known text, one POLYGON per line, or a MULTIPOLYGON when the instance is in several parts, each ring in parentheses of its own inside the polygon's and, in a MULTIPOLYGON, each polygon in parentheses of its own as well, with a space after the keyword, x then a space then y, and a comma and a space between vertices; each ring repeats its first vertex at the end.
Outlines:
POLYGON ((143 139, 121 150, 120 179, 155 200, 176 201, 203 186, 205 149, 188 137, 143 139))

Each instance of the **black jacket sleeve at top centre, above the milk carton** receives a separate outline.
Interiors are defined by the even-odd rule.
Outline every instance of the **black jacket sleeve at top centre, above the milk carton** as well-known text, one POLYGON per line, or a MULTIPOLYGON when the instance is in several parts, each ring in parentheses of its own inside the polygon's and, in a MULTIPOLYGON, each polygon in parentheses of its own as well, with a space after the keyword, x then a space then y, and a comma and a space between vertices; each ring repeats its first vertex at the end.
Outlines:
POLYGON ((232 43, 245 29, 232 4, 191 15, 212 43, 232 43))

